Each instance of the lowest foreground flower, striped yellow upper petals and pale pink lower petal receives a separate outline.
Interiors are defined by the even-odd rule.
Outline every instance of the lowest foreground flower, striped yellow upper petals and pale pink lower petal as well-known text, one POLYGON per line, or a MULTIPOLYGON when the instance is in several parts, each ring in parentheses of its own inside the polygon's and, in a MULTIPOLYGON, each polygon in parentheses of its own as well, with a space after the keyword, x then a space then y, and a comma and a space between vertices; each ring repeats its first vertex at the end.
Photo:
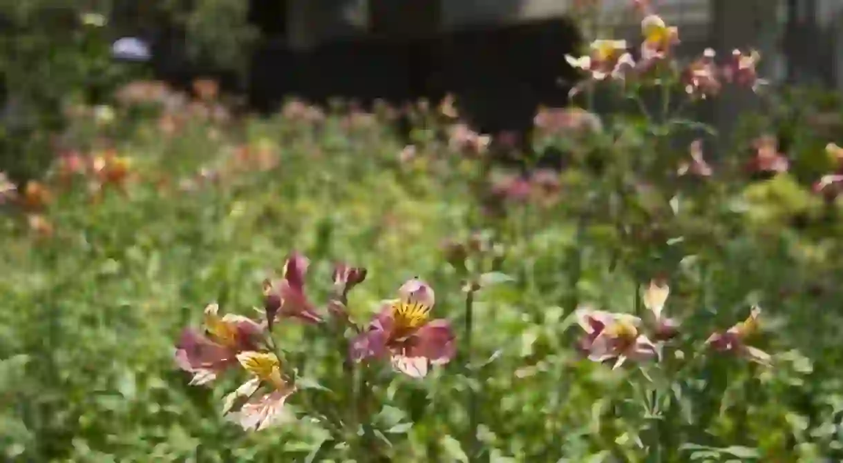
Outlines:
POLYGON ((276 354, 247 351, 238 354, 237 360, 252 378, 225 397, 223 415, 246 431, 283 423, 284 404, 296 386, 284 380, 276 354), (264 390, 259 393, 261 387, 264 390))

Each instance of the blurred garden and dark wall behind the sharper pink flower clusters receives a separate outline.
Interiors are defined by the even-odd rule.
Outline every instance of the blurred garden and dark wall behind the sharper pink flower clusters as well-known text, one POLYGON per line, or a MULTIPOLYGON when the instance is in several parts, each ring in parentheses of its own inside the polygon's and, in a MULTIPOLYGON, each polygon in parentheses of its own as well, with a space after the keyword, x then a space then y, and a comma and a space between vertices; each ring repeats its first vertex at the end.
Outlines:
POLYGON ((0 460, 843 461, 840 0, 26 0, 0 32, 0 460), (629 95, 573 98, 566 55, 636 50, 645 3, 683 63, 760 51, 766 90, 674 104, 664 139, 629 95), (711 183, 677 179, 693 140, 711 183), (319 421, 359 386, 314 327, 277 337, 319 419, 280 431, 175 368, 293 249, 320 307, 336 261, 368 269, 362 325, 421 275, 459 333, 425 381, 379 371, 359 439, 319 421), (479 269, 513 283, 470 314, 479 269), (680 353, 760 303, 778 366, 647 386, 577 357, 574 309, 638 313, 657 275, 680 353))

